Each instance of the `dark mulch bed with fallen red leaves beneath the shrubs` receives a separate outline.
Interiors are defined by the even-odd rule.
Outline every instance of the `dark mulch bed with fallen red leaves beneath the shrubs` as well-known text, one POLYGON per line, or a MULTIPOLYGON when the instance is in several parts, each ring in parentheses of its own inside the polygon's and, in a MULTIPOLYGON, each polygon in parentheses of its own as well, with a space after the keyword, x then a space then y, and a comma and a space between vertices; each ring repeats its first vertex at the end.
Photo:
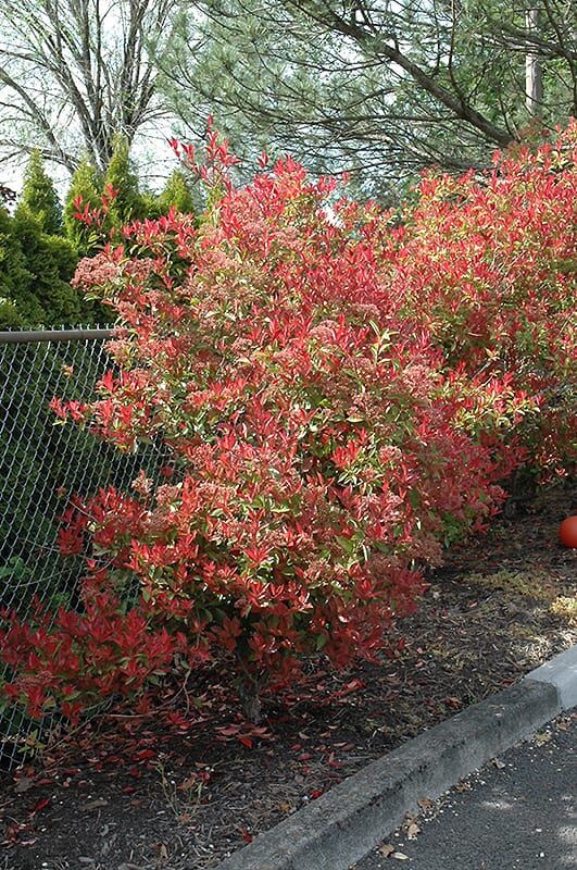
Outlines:
POLYGON ((516 682, 577 641, 577 550, 557 540, 570 512, 575 487, 542 489, 454 547, 418 612, 391 632, 391 647, 403 638, 404 648, 338 675, 315 663, 267 701, 259 729, 235 713, 221 678, 210 692, 187 685, 167 697, 162 725, 109 712, 1 773, 1 870, 216 867, 373 759, 516 682))

